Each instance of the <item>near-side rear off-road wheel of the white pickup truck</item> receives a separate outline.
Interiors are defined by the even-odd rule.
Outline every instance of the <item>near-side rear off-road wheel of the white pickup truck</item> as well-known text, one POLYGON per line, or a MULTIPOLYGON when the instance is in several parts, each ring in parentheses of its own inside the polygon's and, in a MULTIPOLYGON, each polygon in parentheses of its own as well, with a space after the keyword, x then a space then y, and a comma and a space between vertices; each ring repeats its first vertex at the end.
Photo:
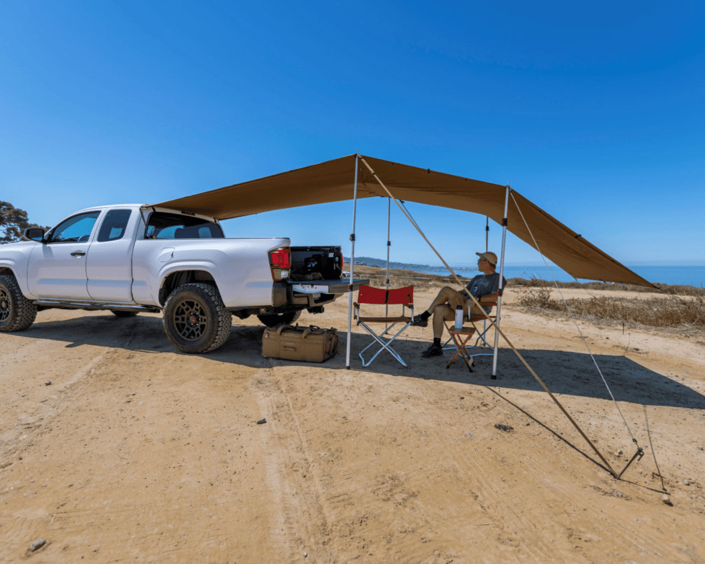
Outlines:
POLYGON ((218 288, 192 283, 178 286, 164 304, 166 338, 184 353, 210 353, 226 342, 233 316, 218 288))

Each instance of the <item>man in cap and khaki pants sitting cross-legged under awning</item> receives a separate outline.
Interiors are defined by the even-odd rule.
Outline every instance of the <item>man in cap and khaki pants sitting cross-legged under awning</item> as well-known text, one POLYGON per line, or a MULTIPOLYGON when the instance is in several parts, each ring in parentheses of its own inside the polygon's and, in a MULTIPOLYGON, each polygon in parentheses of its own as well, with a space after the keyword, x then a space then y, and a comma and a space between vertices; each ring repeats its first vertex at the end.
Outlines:
MULTIPOLYGON (((465 286, 468 293, 474 295, 474 297, 480 303, 484 302, 496 302, 497 296, 499 294, 499 273, 495 271, 497 266, 497 255, 494 252, 476 252, 475 255, 479 257, 477 259, 477 269, 484 274, 478 274, 470 283, 465 286)), ((507 281, 502 278, 502 288, 505 287, 507 281)), ((438 357, 443 354, 443 347, 441 346, 441 335, 443 334, 443 320, 451 321, 455 319, 455 308, 458 305, 462 306, 463 315, 467 315, 467 305, 471 303, 472 300, 466 295, 453 290, 446 286, 442 288, 436 299, 431 302, 429 309, 420 315, 415 315, 411 319, 411 324, 420 327, 426 327, 429 324, 429 317, 431 313, 434 314, 434 342, 424 350, 422 356, 424 358, 428 357, 438 357)), ((492 311, 492 306, 483 306, 482 309, 486 313, 492 311)), ((472 309, 470 314, 479 314, 480 309, 472 302, 472 309)))

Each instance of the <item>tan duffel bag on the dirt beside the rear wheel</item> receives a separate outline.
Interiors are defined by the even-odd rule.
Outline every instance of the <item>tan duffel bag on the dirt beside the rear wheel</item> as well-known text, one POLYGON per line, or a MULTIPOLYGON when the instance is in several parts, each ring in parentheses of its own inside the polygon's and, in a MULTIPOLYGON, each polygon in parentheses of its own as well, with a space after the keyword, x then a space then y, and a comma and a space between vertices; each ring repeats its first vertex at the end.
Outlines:
POLYGON ((298 324, 267 327, 262 336, 262 356, 323 362, 338 353, 336 329, 317 326, 300 327, 298 324))

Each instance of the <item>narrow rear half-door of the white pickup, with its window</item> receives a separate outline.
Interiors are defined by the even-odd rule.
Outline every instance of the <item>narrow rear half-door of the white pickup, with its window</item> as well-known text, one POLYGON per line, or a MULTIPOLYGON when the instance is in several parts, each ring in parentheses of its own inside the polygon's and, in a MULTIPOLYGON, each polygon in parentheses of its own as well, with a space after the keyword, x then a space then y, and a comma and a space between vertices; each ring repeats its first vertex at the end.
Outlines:
POLYGON ((88 293, 101 302, 131 302, 132 251, 139 215, 130 209, 109 209, 88 250, 88 293))

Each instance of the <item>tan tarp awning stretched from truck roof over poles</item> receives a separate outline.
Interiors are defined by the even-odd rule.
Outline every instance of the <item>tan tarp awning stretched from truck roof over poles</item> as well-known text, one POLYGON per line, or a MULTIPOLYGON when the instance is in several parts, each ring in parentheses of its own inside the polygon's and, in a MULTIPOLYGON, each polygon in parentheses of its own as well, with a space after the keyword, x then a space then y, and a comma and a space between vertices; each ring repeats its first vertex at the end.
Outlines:
MULTIPOLYGON (((489 216, 501 223, 505 186, 416 168, 374 157, 363 157, 390 192, 399 200, 462 209, 489 216)), ((213 216, 216 219, 269 212, 273 209, 340 202, 353 199, 355 155, 297 168, 274 176, 250 180, 219 190, 154 204, 213 216)), ((516 190, 512 194, 536 238, 539 250, 575 278, 652 286, 581 235, 529 202, 516 190)), ((357 176, 357 197, 387 197, 364 164, 357 176)), ((517 205, 510 197, 508 230, 536 248, 517 205)))

